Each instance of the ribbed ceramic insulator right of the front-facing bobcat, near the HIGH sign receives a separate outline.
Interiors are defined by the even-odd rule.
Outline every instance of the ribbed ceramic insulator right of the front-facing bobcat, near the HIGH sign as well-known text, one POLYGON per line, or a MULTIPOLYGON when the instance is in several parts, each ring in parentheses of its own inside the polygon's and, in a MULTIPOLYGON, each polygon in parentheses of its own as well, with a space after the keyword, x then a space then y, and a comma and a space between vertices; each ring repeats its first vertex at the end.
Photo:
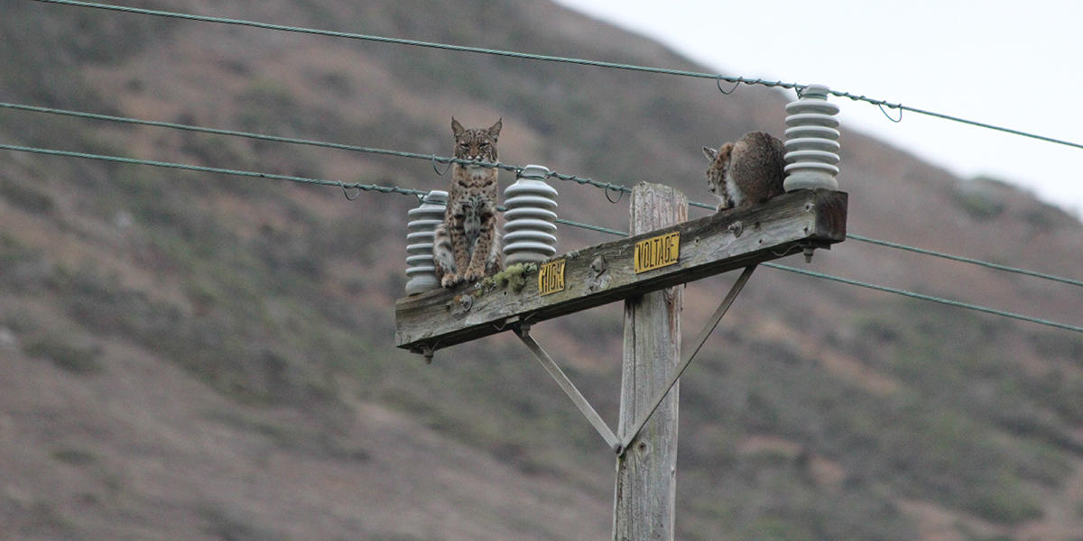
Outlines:
POLYGON ((526 166, 504 190, 504 264, 536 263, 557 253, 557 189, 549 170, 526 166))

